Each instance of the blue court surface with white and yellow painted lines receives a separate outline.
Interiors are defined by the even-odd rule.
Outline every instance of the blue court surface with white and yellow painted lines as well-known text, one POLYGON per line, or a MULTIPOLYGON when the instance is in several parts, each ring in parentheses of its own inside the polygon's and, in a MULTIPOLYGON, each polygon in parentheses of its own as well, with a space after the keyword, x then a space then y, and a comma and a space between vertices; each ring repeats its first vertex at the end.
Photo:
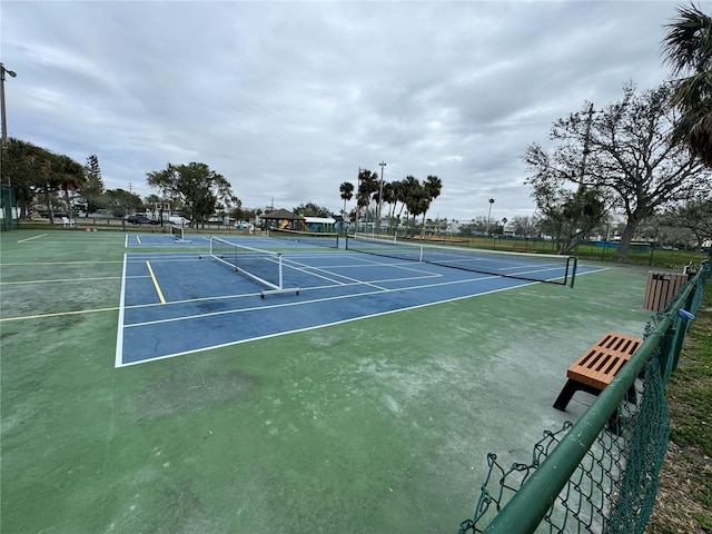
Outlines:
MULTIPOLYGON (((178 243, 160 234, 129 235, 117 367, 536 284, 270 238, 225 239, 281 248, 284 289, 276 291, 210 257, 206 236, 185 236, 178 243), (161 249, 155 251, 157 247, 161 249)), ((219 257, 228 256, 226 249, 219 257)), ((247 257, 246 270, 278 281, 279 257, 247 257)), ((599 269, 580 265, 577 275, 593 270, 599 269)))

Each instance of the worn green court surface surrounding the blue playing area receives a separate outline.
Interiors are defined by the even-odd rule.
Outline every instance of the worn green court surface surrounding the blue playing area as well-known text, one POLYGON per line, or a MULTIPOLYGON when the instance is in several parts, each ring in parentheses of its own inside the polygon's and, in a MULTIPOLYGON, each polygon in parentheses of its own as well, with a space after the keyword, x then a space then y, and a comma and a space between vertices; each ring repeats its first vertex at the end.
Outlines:
POLYGON ((2 533, 456 532, 486 454, 530 462, 593 400, 552 407, 568 365, 652 315, 606 265, 117 369, 123 245, 0 235, 2 533))

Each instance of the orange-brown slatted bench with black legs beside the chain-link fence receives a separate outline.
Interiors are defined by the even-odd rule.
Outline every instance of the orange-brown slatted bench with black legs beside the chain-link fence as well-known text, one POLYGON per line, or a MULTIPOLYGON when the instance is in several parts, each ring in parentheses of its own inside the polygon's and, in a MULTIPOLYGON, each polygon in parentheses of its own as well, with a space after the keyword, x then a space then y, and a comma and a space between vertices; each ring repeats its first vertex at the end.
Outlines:
MULTIPOLYGON (((609 332, 595 345, 581 355, 566 370, 566 385, 558 394, 554 407, 564 412, 576 392, 599 395, 611 384, 615 374, 631 359, 643 344, 639 337, 609 332)), ((627 392, 627 399, 635 402, 635 388, 627 392)))

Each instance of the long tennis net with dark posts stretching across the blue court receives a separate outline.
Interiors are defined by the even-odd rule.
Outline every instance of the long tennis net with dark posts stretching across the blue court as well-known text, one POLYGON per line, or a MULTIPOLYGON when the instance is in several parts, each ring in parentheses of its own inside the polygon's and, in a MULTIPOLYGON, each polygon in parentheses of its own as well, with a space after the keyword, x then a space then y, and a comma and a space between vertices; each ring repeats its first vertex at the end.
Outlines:
POLYGON ((523 280, 566 285, 576 270, 576 258, 551 254, 508 253, 464 247, 448 247, 348 236, 346 248, 408 261, 423 261, 455 269, 497 275, 523 280))

